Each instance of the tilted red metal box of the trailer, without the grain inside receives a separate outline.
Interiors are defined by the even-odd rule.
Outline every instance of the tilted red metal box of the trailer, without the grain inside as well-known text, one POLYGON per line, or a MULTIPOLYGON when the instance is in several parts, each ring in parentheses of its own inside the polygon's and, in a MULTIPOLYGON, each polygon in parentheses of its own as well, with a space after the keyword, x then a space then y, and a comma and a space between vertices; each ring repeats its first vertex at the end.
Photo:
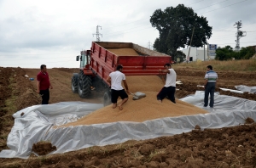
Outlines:
POLYGON ((125 76, 153 76, 158 75, 158 70, 171 61, 172 57, 169 55, 131 42, 92 42, 90 48, 90 69, 103 81, 106 81, 109 73, 113 72, 118 64, 123 65, 125 76), (117 55, 109 51, 117 48, 132 48, 139 56, 117 55))

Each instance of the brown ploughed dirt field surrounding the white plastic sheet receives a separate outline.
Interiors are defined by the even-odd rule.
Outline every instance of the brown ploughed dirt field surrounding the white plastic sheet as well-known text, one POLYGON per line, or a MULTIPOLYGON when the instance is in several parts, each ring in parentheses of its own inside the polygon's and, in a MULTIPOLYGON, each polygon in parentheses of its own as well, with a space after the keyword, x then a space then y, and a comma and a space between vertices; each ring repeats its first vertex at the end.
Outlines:
MULTIPOLYGON (((179 68, 176 98, 183 98, 202 90, 204 70, 179 68)), ((14 124, 12 114, 17 110, 34 104, 40 104, 35 92, 39 70, 0 67, 0 150, 8 148, 6 141, 14 124)), ((218 70, 217 70, 218 71, 218 70)), ((49 104, 63 101, 82 101, 102 103, 102 96, 94 93, 94 98, 82 99, 71 91, 71 77, 78 69, 49 69, 49 104)), ((218 71, 218 87, 236 89, 235 85, 256 86, 256 74, 250 72, 218 71)), ((216 91, 221 94, 256 100, 256 94, 216 91)), ((189 133, 172 137, 159 137, 144 141, 108 145, 105 147, 84 148, 67 154, 54 154, 37 157, 34 154, 28 160, 0 159, 0 167, 255 167, 256 166, 256 124, 247 119, 246 125, 222 129, 200 127, 189 133)), ((49 151, 53 148, 47 143, 40 144, 49 151)), ((38 144, 39 146, 39 144, 38 144)), ((37 146, 35 146, 37 148, 37 146)), ((42 154, 47 154, 47 151, 42 154)))

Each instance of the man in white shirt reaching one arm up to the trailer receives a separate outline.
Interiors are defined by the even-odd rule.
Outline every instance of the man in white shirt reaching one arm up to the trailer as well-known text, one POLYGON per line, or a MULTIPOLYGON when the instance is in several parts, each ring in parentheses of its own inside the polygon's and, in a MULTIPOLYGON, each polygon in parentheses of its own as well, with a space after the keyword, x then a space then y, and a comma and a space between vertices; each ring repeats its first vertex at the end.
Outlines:
POLYGON ((157 94, 157 100, 162 102, 162 100, 168 96, 168 98, 176 104, 174 96, 176 91, 176 72, 169 63, 165 64, 164 67, 166 70, 159 70, 159 72, 166 73, 166 85, 157 94))

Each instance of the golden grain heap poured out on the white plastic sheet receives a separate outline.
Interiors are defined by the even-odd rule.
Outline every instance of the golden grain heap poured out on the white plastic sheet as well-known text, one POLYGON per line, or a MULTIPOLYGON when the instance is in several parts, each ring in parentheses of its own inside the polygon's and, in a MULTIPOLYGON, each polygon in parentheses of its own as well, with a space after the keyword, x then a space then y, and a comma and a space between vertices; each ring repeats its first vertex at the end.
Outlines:
MULTIPOLYGON (((158 76, 126 76, 126 81, 130 92, 144 92, 146 93, 146 97, 139 100, 132 100, 132 95, 129 95, 129 100, 123 105, 123 110, 119 110, 119 108, 112 109, 112 105, 108 105, 65 126, 91 125, 118 121, 143 122, 145 120, 164 117, 207 113, 204 109, 178 99, 176 99, 176 104, 173 104, 166 98, 162 103, 157 101, 156 95, 164 86, 163 81, 158 76)), ((120 101, 119 99, 118 104, 120 101)))

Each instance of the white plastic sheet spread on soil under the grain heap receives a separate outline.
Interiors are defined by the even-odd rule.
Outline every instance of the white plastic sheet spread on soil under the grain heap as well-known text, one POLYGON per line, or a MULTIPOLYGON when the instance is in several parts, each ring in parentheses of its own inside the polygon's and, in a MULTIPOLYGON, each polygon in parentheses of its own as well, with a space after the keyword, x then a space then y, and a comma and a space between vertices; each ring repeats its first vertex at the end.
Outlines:
MULTIPOLYGON (((195 92, 182 98, 189 104, 203 107, 204 93, 195 92)), ((215 95, 214 108, 205 115, 186 115, 166 117, 144 122, 119 121, 90 126, 69 126, 54 129, 67 122, 77 120, 83 115, 102 108, 102 104, 68 102, 49 105, 37 105, 22 109, 15 113, 15 126, 9 133, 8 147, 0 153, 1 158, 26 159, 32 153, 32 144, 49 141, 57 147, 51 154, 68 151, 124 143, 127 140, 144 140, 154 137, 170 136, 183 132, 191 132, 195 125, 204 128, 221 128, 243 124, 247 117, 256 120, 256 101, 215 95), (25 115, 20 115, 22 112, 25 115)))

